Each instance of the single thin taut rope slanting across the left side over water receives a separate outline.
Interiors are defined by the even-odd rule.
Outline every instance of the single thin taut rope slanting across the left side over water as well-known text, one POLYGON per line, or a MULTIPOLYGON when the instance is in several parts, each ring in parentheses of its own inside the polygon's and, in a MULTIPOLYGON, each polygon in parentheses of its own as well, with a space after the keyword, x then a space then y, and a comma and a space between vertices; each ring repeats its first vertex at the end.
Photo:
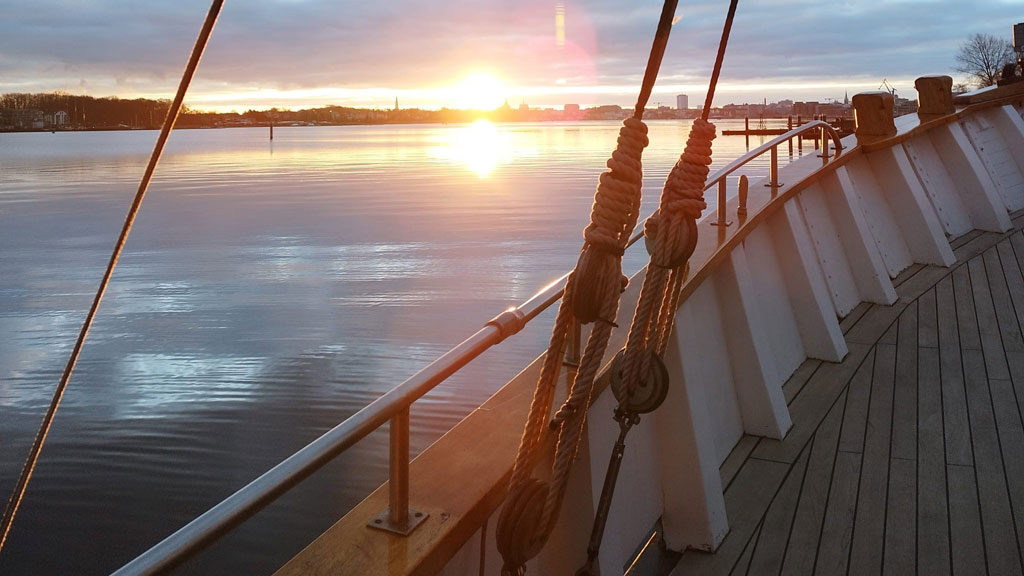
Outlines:
POLYGON ((92 327, 92 321, 96 317, 96 312, 99 310, 99 302, 103 299, 103 294, 106 292, 106 286, 111 282, 111 277, 114 275, 114 269, 118 264, 118 258, 121 256, 121 252, 124 249, 125 242, 128 240, 128 234, 131 232, 131 227, 135 222, 135 216, 138 214, 138 210, 142 205, 142 199, 145 197, 145 192, 150 188, 150 180, 153 178, 153 173, 157 169, 157 162, 160 161, 160 156, 164 152, 164 146, 167 143, 167 138, 171 134, 171 130, 174 128, 174 122, 178 118, 178 113, 181 110, 181 102, 184 100, 185 92, 188 91, 188 85, 191 83, 193 76, 196 74, 196 69, 199 67, 199 60, 203 56, 203 51, 206 49, 207 42, 210 40, 210 34, 213 32, 213 26, 217 23, 217 16, 220 15, 220 9, 224 4, 224 0, 213 0, 210 5, 210 10, 206 14, 206 19, 203 22, 203 28, 200 29, 199 37, 196 38, 196 44, 193 46, 191 55, 188 57, 188 64, 185 65, 184 73, 181 76, 181 81, 178 83, 178 91, 174 95, 174 100, 171 101, 171 107, 167 110, 167 117, 164 118, 164 125, 160 130, 160 136, 157 137, 157 145, 153 149, 153 154, 150 156, 150 163, 145 167, 145 172, 142 174, 142 179, 139 181, 138 190, 135 193, 134 200, 132 201, 131 207, 128 209, 128 215, 125 217, 124 225, 121 228, 121 235, 118 237, 117 244, 114 246, 114 251, 111 254, 111 259, 106 264, 106 272, 103 273, 103 278, 99 282, 99 288, 96 289, 96 295, 92 299, 92 305, 89 307, 89 313, 85 317, 85 322, 82 323, 82 329, 78 333, 78 339, 75 340, 75 346, 72 348, 71 356, 68 358, 68 363, 65 365, 63 373, 60 375, 60 381, 57 383, 56 389, 53 390, 53 398, 50 400, 49 407, 46 409, 46 414, 43 416, 42 424, 39 426, 39 431, 36 434, 36 439, 32 443, 32 448, 29 450, 29 456, 25 460, 25 465, 22 467, 22 475, 17 479, 17 484, 14 487, 14 491, 7 501, 7 507, 4 509, 3 520, 0 522, 0 549, 3 548, 4 542, 7 540, 7 535, 10 533, 10 527, 14 522, 14 515, 17 513, 17 508, 22 503, 22 499, 25 497, 25 491, 29 487, 29 480, 32 478, 32 472, 36 467, 36 462, 39 460, 39 454, 43 450, 43 443, 46 442, 46 435, 50 431, 50 425, 53 423, 53 418, 56 416, 57 408, 60 406, 60 400, 63 398, 63 393, 68 388, 68 382, 71 380, 72 371, 75 370, 75 363, 78 362, 78 357, 82 352, 82 346, 85 344, 85 337, 89 333, 89 328, 92 327))

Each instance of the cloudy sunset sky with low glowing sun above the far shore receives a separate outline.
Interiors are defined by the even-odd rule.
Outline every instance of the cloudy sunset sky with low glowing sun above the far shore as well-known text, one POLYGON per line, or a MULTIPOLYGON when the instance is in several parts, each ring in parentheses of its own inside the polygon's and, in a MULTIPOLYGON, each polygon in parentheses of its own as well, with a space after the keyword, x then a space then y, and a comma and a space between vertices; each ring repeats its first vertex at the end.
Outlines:
MULTIPOLYGON (((728 3, 681 0, 651 104, 702 100, 728 3)), ((0 92, 170 97, 207 0, 10 2, 0 92)), ((201 110, 630 106, 652 0, 227 0, 186 104, 201 110), (562 15, 563 14, 563 15, 562 15), (564 23, 562 26, 561 23, 564 23)), ((716 105, 843 98, 951 74, 1024 0, 742 0, 716 105)))

